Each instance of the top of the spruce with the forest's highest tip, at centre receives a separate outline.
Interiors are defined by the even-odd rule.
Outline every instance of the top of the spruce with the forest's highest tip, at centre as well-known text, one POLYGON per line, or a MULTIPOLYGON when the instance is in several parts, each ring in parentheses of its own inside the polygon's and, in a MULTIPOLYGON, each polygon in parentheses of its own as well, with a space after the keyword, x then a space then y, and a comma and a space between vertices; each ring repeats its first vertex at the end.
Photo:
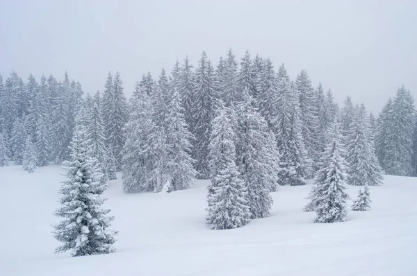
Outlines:
POLYGON ((227 51, 227 57, 224 60, 224 68, 220 77, 220 91, 226 105, 229 106, 231 102, 236 103, 240 101, 238 62, 231 49, 227 51))

